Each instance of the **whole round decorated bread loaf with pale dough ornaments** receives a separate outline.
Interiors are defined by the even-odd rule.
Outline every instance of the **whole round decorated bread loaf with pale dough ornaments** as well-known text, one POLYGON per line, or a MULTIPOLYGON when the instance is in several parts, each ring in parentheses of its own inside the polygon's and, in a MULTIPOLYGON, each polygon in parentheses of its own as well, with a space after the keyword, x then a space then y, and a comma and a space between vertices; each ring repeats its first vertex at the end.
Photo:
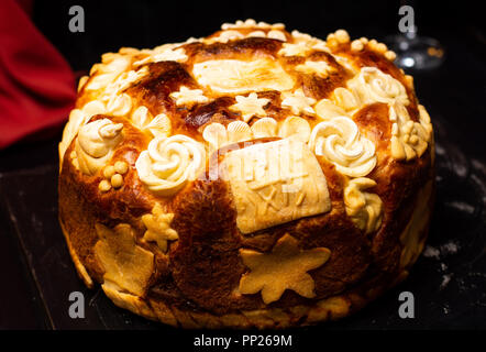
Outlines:
POLYGON ((385 44, 283 24, 108 53, 59 144, 86 285, 184 328, 336 319, 408 275, 433 132, 385 44))

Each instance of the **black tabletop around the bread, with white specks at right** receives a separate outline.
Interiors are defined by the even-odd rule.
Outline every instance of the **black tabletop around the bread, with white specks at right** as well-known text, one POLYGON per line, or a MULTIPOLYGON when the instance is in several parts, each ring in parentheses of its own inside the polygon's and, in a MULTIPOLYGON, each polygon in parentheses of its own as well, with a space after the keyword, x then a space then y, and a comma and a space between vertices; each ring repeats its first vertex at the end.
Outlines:
MULTIPOLYGON (((444 64, 415 74, 417 95, 437 139, 437 205, 426 251, 409 278, 356 315, 306 328, 477 329, 486 326, 486 66, 471 34, 441 38, 444 64), (416 318, 400 319, 398 296, 411 292, 416 318)), ((57 141, 0 152, 0 329, 173 328, 114 307, 78 279, 57 222, 57 141), (71 292, 86 318, 70 319, 71 292)))

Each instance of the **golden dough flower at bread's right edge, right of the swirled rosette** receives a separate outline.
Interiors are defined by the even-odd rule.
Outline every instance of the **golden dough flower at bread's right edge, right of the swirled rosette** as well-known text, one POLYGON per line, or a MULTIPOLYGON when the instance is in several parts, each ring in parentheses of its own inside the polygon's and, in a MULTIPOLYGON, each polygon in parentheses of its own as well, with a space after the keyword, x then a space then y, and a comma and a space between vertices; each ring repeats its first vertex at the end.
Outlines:
POLYGON ((432 124, 426 109, 419 106, 420 122, 412 121, 407 109, 400 103, 390 105, 388 111, 393 122, 391 156, 398 161, 422 156, 432 133, 432 124))

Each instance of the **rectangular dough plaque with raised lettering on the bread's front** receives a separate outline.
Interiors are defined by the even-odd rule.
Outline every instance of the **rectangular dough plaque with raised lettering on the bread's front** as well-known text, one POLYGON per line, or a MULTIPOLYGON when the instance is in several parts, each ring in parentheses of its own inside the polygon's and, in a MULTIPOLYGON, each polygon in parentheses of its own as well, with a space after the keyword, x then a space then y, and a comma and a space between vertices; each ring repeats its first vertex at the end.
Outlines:
POLYGON ((328 184, 307 145, 288 138, 232 151, 224 166, 236 224, 251 233, 331 209, 328 184))

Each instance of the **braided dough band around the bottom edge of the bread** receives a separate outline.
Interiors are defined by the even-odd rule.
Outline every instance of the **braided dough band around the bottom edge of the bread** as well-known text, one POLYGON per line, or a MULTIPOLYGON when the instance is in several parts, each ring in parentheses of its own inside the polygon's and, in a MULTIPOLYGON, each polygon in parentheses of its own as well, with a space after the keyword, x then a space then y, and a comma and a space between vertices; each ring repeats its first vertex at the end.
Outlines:
MULTIPOLYGON (((430 212, 433 204, 433 189, 428 188, 427 191, 429 194, 423 195, 424 198, 421 198, 420 202, 424 204, 426 209, 430 212)), ((418 207, 416 213, 419 215, 422 210, 423 208, 418 207)), ((428 227, 429 223, 426 221, 420 229, 416 229, 420 243, 410 244, 411 251, 416 253, 421 252, 421 245, 423 245, 423 241, 427 238, 428 227), (415 249, 412 249, 412 246, 415 246, 415 249)), ((64 233, 66 238, 69 238, 67 232, 64 231, 64 233)), ((415 260, 417 260, 417 257, 415 257, 415 260)), ((286 308, 276 307, 253 310, 239 309, 223 315, 208 314, 207 311, 195 310, 189 307, 184 309, 178 305, 174 305, 172 300, 166 297, 162 299, 159 296, 150 296, 143 299, 134 295, 120 293, 110 286, 103 285, 102 288, 117 306, 129 309, 147 319, 158 320, 175 327, 189 329, 202 327, 210 329, 228 327, 238 329, 283 329, 295 326, 313 324, 327 320, 336 320, 360 310, 367 302, 376 299, 383 292, 402 282, 408 276, 408 268, 413 264, 413 261, 407 263, 406 267, 401 267, 400 271, 394 275, 382 275, 378 279, 375 277, 345 293, 318 300, 310 306, 297 305, 286 308)), ((78 271, 84 271, 78 264, 76 264, 76 267, 78 271)))

